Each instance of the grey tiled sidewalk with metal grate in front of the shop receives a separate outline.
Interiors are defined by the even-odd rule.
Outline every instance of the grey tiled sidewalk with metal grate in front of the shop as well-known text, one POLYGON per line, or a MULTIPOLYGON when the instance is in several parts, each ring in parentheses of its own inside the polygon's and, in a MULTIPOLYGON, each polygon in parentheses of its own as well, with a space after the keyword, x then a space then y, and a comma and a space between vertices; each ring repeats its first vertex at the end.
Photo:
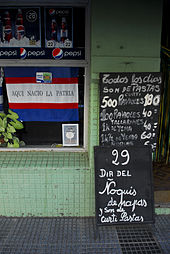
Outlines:
POLYGON ((0 218, 0 254, 169 254, 170 215, 154 225, 107 226, 94 218, 0 218))

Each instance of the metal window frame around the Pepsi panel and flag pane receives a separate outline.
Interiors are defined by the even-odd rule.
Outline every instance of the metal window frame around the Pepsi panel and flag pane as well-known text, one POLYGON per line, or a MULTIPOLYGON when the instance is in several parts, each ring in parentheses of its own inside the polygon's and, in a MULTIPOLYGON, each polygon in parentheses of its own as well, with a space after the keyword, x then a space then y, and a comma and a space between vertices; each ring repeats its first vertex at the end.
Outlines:
MULTIPOLYGON (((85 8, 85 60, 48 60, 48 59, 1 59, 1 67, 17 67, 23 66, 50 66, 50 67, 83 67, 85 70, 84 79, 84 132, 83 132, 83 147, 81 148, 43 148, 43 146, 34 146, 28 148, 5 148, 5 151, 32 151, 32 150, 57 150, 57 151, 87 151, 88 149, 88 113, 89 113, 89 83, 90 83, 90 0, 51 0, 47 3, 45 0, 13 0, 13 1, 1 1, 0 6, 69 6, 69 7, 84 7, 85 8)), ((0 148, 0 151, 4 148, 0 148)))

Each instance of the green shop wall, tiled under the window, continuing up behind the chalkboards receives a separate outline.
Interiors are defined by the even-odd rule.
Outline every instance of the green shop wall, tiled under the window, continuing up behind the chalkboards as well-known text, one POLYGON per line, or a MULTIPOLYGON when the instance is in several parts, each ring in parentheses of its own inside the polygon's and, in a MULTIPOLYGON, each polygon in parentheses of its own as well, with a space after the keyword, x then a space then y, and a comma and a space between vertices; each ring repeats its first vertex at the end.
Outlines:
POLYGON ((160 70, 161 0, 91 1, 87 153, 1 152, 0 215, 93 216, 99 73, 160 70))

